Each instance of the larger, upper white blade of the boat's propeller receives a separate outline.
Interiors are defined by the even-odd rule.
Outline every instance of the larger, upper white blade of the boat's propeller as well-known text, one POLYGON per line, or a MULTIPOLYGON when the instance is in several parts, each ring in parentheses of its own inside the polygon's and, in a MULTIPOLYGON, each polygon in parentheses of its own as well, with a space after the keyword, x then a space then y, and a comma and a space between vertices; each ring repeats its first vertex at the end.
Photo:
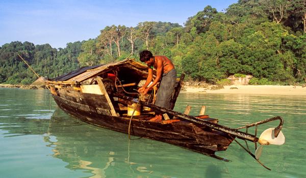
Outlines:
MULTIPOLYGON (((282 131, 279 132, 278 136, 274 136, 274 129, 275 128, 269 128, 265 130, 259 137, 258 142, 261 145, 269 145, 269 144, 276 144, 276 145, 282 145, 285 143, 285 136, 282 131)), ((259 146, 260 147, 260 146, 259 146)))

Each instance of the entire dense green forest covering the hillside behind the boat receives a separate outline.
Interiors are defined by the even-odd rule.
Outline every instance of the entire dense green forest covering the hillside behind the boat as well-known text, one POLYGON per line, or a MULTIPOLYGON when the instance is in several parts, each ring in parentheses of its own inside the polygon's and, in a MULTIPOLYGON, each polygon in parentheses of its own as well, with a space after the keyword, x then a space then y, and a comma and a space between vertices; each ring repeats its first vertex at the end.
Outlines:
POLYGON ((239 0, 226 12, 207 6, 185 27, 170 22, 140 22, 136 27, 106 26, 95 39, 48 44, 12 42, 0 48, 0 83, 30 83, 79 66, 138 58, 140 50, 166 55, 178 73, 216 83, 229 75, 253 75, 251 82, 293 83, 306 80, 306 3, 302 0, 239 0))

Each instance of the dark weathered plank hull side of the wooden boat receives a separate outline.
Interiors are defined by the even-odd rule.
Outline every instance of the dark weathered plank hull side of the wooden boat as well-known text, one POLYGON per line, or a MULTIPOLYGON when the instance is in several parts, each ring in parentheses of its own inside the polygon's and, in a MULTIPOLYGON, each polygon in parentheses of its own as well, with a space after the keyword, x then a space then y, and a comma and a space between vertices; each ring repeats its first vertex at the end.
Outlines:
MULTIPOLYGON (((103 95, 60 90, 54 95, 58 106, 80 120, 113 131, 128 134, 130 118, 112 116, 103 95)), ((226 133, 188 122, 157 123, 133 118, 131 135, 158 140, 206 155, 225 151, 234 140, 226 133)))

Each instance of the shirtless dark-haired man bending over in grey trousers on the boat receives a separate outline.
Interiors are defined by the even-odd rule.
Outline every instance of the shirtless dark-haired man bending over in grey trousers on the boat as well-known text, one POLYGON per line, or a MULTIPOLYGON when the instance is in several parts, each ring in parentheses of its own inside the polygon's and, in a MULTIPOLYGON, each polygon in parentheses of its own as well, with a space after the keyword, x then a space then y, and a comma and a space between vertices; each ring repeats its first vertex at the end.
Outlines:
MULTIPOLYGON (((159 80, 161 80, 159 89, 157 91, 155 105, 169 109, 171 107, 170 101, 172 99, 172 93, 176 81, 176 71, 174 69, 174 65, 166 56, 153 56, 148 50, 140 52, 139 58, 141 62, 144 62, 148 66, 148 77, 144 85, 138 89, 138 92, 143 95, 147 94, 148 91, 151 90, 151 88, 154 87, 159 80), (153 79, 153 68, 156 69, 156 78, 149 85, 153 79)), ((162 113, 157 111, 155 117, 151 118, 150 121, 161 122, 162 113)))

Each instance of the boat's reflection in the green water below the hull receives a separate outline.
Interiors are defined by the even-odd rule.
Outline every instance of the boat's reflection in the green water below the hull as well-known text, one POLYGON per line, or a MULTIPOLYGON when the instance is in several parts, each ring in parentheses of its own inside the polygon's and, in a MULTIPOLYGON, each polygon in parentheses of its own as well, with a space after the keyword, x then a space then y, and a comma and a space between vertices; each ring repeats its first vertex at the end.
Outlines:
POLYGON ((188 177, 210 174, 207 167, 212 165, 227 172, 222 161, 167 143, 132 138, 89 125, 61 110, 55 111, 44 135, 53 157, 68 163, 68 169, 91 173, 90 177, 188 177), (190 165, 190 172, 177 168, 190 165))

